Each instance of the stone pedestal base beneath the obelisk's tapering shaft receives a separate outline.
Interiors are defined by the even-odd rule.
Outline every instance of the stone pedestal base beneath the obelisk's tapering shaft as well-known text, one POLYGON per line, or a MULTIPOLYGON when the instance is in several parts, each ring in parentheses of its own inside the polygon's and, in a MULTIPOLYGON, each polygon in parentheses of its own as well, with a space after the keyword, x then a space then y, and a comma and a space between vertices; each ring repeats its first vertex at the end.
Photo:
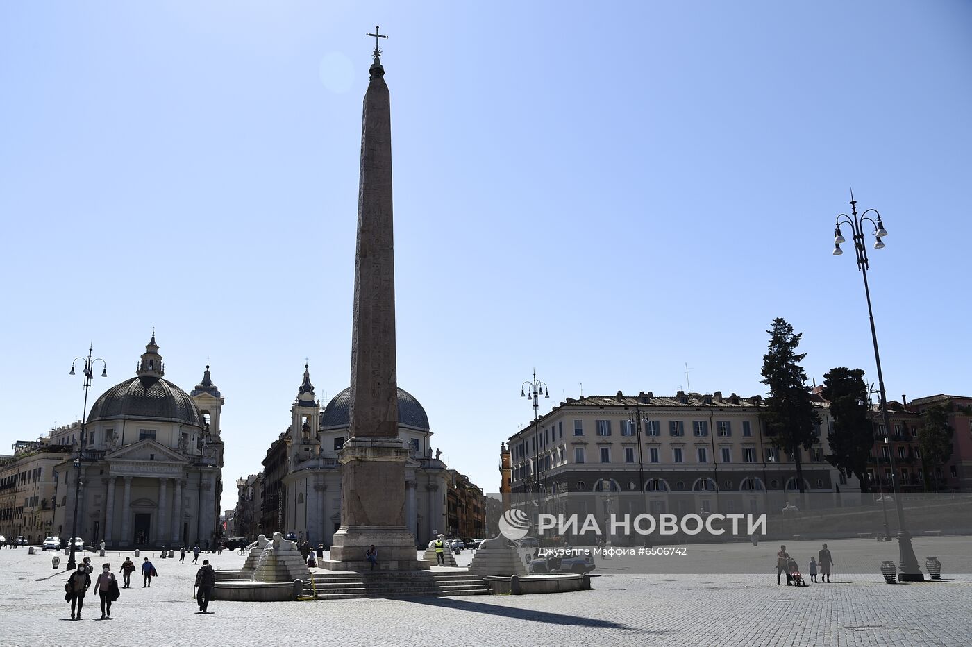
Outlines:
POLYGON ((415 535, 405 526, 405 460, 398 438, 349 438, 341 451, 341 528, 334 533, 329 570, 372 570, 364 554, 374 544, 374 570, 424 570, 415 535))

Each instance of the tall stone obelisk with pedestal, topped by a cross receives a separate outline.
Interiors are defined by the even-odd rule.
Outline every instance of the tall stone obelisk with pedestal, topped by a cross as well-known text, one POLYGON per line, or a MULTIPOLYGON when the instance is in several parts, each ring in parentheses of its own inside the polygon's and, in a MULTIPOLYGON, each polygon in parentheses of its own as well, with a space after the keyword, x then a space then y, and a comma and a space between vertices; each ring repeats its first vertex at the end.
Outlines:
MULTIPOLYGON (((381 569, 414 569, 415 537, 405 526, 405 461, 399 440, 395 357, 395 255, 392 223, 392 118, 378 35, 364 92, 355 304, 351 340, 349 438, 339 459, 341 528, 330 568, 370 568, 374 544, 381 569), (342 562, 342 563, 336 563, 342 562)), ((426 565, 426 567, 428 567, 426 565)))

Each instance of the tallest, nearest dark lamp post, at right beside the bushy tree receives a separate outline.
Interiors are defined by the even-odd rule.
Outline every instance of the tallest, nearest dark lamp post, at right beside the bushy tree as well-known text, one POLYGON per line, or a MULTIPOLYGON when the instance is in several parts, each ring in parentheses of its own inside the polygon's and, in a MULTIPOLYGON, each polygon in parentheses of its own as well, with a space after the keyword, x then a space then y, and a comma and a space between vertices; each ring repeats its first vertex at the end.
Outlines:
MULTIPOLYGON (((885 378, 881 372, 881 353, 878 351, 878 333, 874 327, 874 311, 871 308, 871 289, 867 285, 867 249, 864 247, 864 222, 870 222, 875 228, 874 237, 874 249, 881 250, 885 247, 884 237, 887 235, 885 231, 885 224, 881 220, 881 214, 878 213, 877 209, 868 209, 862 214, 857 214, 857 201, 853 199, 853 192, 851 191, 851 215, 839 214, 834 226, 834 251, 833 255, 839 256, 844 254, 841 251, 841 243, 846 242, 846 239, 841 234, 841 225, 846 224, 851 227, 851 239, 853 241, 853 249, 857 255, 857 270, 861 273, 864 278, 864 295, 867 298, 867 315, 871 323, 871 341, 874 343, 874 361, 878 368, 878 389, 879 396, 881 397, 881 412, 885 421, 885 443, 886 434, 889 433, 890 422, 887 417, 887 397, 885 395, 885 378), (875 217, 878 219, 877 222, 873 218, 869 217, 868 214, 874 212, 875 217)), ((901 497, 898 495, 897 485, 894 479, 894 453, 888 452, 888 462, 891 466, 891 493, 894 496, 894 504, 897 508, 898 513, 898 580, 902 582, 922 582, 924 581, 924 574, 918 565, 918 560, 915 558, 915 549, 912 547, 911 534, 908 532, 908 528, 905 526, 905 513, 904 508, 901 505, 901 497)), ((884 494, 882 494, 884 497, 884 494)))

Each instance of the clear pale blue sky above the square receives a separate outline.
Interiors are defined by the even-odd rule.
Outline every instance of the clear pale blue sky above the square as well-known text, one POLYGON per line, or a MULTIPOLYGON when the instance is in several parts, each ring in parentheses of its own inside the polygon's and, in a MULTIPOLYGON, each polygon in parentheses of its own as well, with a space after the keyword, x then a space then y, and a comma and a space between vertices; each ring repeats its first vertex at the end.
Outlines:
MULTIPOLYGON (((0 4, 0 447, 133 375, 226 397, 226 497, 310 358, 348 385, 361 102, 392 93, 399 385, 496 491, 520 385, 762 393, 766 330, 875 380, 834 217, 877 208, 889 396, 972 393, 972 4, 0 4)), ((850 251, 850 250, 849 250, 850 251)))

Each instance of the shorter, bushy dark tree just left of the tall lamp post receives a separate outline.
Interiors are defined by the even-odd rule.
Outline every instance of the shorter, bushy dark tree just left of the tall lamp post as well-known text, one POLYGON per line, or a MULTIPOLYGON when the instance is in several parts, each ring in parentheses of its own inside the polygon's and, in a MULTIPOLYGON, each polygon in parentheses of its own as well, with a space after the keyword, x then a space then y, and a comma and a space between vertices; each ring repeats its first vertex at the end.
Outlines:
POLYGON ((868 419, 867 384, 860 368, 838 366, 823 375, 821 394, 830 402, 833 428, 827 431, 827 443, 833 454, 827 462, 860 481, 860 491, 870 492, 865 474, 867 458, 874 447, 874 429, 868 419))

